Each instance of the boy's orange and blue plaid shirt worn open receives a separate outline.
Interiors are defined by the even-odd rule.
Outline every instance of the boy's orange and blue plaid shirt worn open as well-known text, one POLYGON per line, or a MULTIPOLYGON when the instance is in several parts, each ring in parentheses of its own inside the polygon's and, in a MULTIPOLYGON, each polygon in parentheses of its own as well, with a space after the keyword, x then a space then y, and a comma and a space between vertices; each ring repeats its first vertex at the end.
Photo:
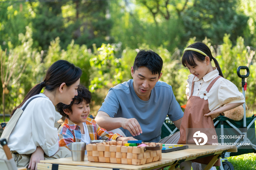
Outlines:
MULTIPOLYGON (((99 127, 96 121, 89 117, 87 117, 85 123, 87 125, 91 140, 116 140, 117 137, 121 136, 119 134, 108 132, 99 127)), ((70 143, 81 142, 82 135, 79 125, 66 118, 58 130, 58 136, 59 146, 67 147, 70 150, 70 143)))

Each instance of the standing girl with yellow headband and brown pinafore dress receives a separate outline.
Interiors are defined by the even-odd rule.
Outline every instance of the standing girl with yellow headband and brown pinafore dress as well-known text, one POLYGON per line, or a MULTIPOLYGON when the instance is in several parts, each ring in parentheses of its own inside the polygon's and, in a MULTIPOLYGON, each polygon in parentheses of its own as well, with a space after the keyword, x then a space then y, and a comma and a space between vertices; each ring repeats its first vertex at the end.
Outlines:
MULTIPOLYGON (((212 139, 212 135, 216 135, 212 119, 222 112, 242 105, 245 102, 244 96, 236 85, 223 78, 217 60, 212 57, 210 49, 204 43, 197 42, 188 46, 182 56, 182 65, 187 67, 191 74, 187 80, 188 102, 181 122, 178 143, 218 143, 218 139, 212 139), (212 67, 212 60, 216 67, 212 67), (226 105, 221 107, 224 104, 226 105), (207 142, 200 142, 200 138, 195 138, 198 131, 207 135, 207 142)), ((201 163, 204 169, 212 157, 192 161, 201 163)), ((220 160, 214 166, 220 166, 220 160)), ((181 163, 180 168, 191 170, 191 161, 181 163)))

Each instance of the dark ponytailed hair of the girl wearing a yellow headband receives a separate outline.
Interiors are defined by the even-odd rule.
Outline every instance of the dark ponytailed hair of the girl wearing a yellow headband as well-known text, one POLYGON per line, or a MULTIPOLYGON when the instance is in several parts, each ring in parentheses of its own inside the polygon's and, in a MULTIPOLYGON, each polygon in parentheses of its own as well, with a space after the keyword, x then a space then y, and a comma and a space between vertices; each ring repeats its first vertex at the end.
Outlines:
MULTIPOLYGON (((213 59, 215 66, 217 67, 217 69, 219 71, 219 75, 221 77, 223 77, 221 67, 219 66, 217 59, 212 57, 211 50, 209 49, 209 47, 207 45, 205 45, 204 43, 201 43, 201 42, 196 42, 196 43, 193 43, 192 45, 188 46, 188 48, 194 48, 194 49, 203 51, 210 58, 210 61, 212 61, 212 59, 213 59)), ((204 56, 201 53, 188 50, 188 51, 184 52, 181 62, 184 67, 187 67, 186 63, 188 63, 191 66, 197 66, 194 58, 196 58, 200 62, 203 62, 205 60, 205 57, 206 56, 204 56)))

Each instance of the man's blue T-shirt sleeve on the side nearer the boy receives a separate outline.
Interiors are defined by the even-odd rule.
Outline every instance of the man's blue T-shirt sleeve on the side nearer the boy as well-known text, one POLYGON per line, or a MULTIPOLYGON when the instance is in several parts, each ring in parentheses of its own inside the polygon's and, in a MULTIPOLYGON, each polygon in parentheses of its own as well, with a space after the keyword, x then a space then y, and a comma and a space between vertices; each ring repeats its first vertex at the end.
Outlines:
POLYGON ((119 109, 120 103, 118 101, 115 89, 110 88, 99 111, 106 112, 110 117, 114 117, 117 115, 119 109))

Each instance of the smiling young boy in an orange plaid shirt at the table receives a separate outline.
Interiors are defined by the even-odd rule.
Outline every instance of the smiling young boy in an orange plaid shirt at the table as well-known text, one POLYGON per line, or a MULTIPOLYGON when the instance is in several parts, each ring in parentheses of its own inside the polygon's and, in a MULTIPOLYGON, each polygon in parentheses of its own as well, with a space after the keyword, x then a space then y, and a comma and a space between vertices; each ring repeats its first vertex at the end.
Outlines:
POLYGON ((122 137, 119 134, 107 132, 98 126, 95 120, 89 118, 91 92, 83 85, 78 86, 78 95, 72 99, 69 105, 57 104, 57 111, 67 117, 58 130, 59 146, 67 147, 70 143, 84 142, 90 140, 136 140, 132 137, 122 137))

